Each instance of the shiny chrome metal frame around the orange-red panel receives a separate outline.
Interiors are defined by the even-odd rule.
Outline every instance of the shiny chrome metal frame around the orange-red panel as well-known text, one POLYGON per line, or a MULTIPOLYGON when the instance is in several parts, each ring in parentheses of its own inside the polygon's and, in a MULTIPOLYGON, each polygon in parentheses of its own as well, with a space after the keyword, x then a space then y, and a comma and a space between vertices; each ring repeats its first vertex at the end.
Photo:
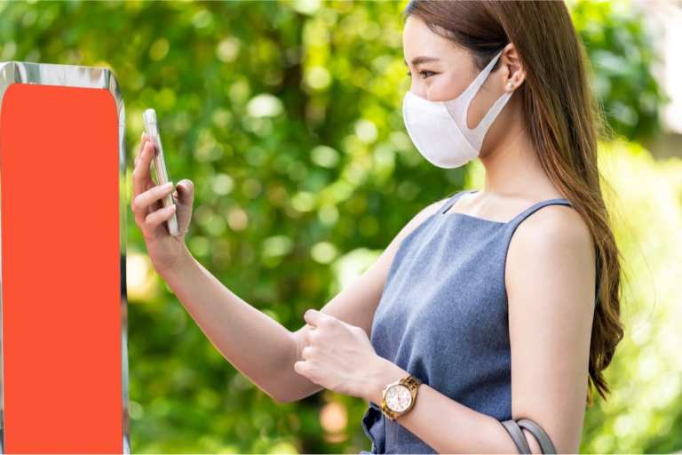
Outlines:
MULTIPOLYGON (((121 360, 123 401, 123 453, 131 453, 130 416, 128 413, 128 297, 125 281, 125 228, 127 204, 125 198, 125 107, 121 89, 114 73, 108 68, 57 65, 51 63, 0 62, 0 109, 4 93, 12 84, 61 85, 67 87, 106 89, 114 97, 118 118, 118 188, 119 188, 119 244, 121 251, 121 360)), ((2 227, 0 227, 2 228, 2 227)), ((0 230, 0 232, 2 232, 0 230)), ((2 245, 0 244, 0 252, 2 245)), ((1 257, 1 256, 0 256, 1 257)), ((4 365, 3 361, 3 295, 2 260, 0 260, 0 453, 4 453, 4 365)))

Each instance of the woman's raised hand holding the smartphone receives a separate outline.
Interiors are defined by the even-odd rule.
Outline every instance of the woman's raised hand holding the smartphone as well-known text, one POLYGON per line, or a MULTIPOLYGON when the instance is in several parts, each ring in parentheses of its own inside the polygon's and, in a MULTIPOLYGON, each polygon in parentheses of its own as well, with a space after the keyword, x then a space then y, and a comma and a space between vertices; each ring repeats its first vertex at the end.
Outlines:
POLYGON ((192 218, 194 202, 194 185, 191 180, 180 180, 173 191, 172 183, 156 185, 152 180, 149 165, 154 157, 154 145, 142 133, 135 157, 135 168, 132 172, 131 210, 135 215, 135 224, 142 231, 147 243, 147 252, 156 271, 163 275, 178 267, 183 254, 186 254, 185 235, 192 218), (163 208, 161 200, 173 191, 176 207, 163 208), (169 234, 166 221, 177 211, 179 234, 169 234))

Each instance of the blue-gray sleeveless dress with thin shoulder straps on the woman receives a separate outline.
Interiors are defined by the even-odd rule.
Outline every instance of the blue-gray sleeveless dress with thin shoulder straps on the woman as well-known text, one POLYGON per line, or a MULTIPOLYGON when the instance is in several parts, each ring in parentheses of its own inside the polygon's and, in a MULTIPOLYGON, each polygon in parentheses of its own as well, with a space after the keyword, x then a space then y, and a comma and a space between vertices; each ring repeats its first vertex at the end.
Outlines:
MULTIPOLYGON (((498 420, 512 419, 512 369, 504 262, 514 230, 556 198, 508 222, 448 212, 459 191, 400 243, 372 321, 378 355, 440 393, 498 420)), ((417 398, 418 399, 418 398, 417 398)), ((436 453, 369 402, 361 453, 436 453)))

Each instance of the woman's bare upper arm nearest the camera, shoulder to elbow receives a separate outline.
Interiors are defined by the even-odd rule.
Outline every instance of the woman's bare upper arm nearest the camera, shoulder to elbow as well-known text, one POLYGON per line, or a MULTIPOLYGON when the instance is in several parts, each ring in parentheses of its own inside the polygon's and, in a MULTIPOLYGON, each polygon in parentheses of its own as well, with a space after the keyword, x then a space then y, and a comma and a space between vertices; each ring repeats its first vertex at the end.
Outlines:
MULTIPOLYGON (((512 414, 535 420, 558 452, 579 450, 595 301, 595 253, 574 209, 545 207, 521 223, 507 271, 512 414)), ((541 453, 523 430, 530 448, 541 453)))

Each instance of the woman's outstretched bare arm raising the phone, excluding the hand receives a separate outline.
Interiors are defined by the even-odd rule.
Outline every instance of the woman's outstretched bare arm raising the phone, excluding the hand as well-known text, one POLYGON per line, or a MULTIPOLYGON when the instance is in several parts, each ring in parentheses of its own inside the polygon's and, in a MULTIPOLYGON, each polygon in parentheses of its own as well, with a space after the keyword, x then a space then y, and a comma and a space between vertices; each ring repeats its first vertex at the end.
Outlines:
MULTIPOLYGON (((442 201, 417 213, 372 266, 321 311, 360 326, 369 335, 385 277, 402 238, 440 204, 442 201)), ((309 326, 295 332, 287 330, 227 289, 186 248, 174 267, 159 273, 218 351, 267 395, 279 402, 289 402, 321 390, 293 367, 300 358, 304 332, 309 326)))

